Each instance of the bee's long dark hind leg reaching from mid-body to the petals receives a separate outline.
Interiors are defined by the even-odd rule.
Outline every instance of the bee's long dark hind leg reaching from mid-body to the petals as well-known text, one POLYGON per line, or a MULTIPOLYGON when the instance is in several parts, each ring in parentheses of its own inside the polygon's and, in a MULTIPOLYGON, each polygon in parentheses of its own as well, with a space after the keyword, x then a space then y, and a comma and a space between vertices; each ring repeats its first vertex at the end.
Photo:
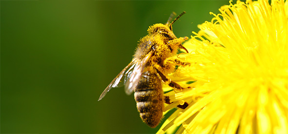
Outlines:
POLYGON ((177 84, 176 82, 172 81, 171 79, 168 79, 160 70, 158 70, 156 67, 154 67, 157 74, 159 75, 159 77, 170 87, 174 88, 175 92, 181 92, 184 89, 190 89, 191 87, 181 87, 179 84, 177 84))

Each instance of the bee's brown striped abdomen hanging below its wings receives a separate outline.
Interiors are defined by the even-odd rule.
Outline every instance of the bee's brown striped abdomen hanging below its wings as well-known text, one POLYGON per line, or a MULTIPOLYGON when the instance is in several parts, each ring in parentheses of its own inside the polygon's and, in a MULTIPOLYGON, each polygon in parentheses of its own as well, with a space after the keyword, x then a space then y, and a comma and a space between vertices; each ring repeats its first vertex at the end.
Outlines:
POLYGON ((156 74, 144 72, 135 89, 137 109, 142 120, 151 128, 161 121, 164 109, 164 95, 161 80, 156 74))

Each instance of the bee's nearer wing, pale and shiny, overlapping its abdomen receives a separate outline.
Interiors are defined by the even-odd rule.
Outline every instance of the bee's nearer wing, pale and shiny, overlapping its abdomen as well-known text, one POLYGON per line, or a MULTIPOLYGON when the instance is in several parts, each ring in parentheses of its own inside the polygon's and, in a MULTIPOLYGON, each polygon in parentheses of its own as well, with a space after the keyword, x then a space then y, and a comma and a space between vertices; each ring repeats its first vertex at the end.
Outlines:
POLYGON ((134 70, 130 75, 129 80, 125 84, 125 93, 127 95, 131 95, 134 92, 137 84, 139 83, 146 63, 148 62, 153 53, 154 51, 150 51, 140 62, 135 63, 134 70))

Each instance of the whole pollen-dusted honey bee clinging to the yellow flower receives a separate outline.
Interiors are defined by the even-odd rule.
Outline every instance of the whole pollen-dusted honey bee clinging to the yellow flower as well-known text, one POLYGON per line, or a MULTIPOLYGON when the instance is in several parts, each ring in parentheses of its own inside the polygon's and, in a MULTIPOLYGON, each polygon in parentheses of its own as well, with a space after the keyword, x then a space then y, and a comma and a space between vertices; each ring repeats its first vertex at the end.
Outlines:
POLYGON ((185 11, 171 22, 173 15, 175 16, 172 13, 166 24, 157 23, 148 28, 148 35, 140 39, 132 61, 106 87, 99 100, 111 88, 125 85, 127 95, 135 92, 134 98, 143 122, 151 128, 160 123, 164 103, 170 103, 165 99, 162 84, 165 83, 178 92, 185 89, 166 77, 175 70, 176 65, 190 65, 173 57, 178 49, 184 49, 188 53, 182 45, 188 38, 177 38, 172 32, 172 24, 184 14, 185 11))

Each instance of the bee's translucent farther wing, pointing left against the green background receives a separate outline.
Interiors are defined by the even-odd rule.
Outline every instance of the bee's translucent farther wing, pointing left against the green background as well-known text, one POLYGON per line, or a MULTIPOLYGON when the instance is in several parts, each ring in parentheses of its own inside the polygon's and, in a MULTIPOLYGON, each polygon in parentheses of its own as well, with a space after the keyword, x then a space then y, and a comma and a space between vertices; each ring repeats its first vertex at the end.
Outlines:
POLYGON ((133 59, 118 75, 115 77, 111 83, 105 88, 98 101, 101 100, 111 88, 121 87, 126 83, 127 79, 131 76, 131 70, 135 67, 135 59, 133 59), (128 69, 129 68, 129 69, 128 69))

